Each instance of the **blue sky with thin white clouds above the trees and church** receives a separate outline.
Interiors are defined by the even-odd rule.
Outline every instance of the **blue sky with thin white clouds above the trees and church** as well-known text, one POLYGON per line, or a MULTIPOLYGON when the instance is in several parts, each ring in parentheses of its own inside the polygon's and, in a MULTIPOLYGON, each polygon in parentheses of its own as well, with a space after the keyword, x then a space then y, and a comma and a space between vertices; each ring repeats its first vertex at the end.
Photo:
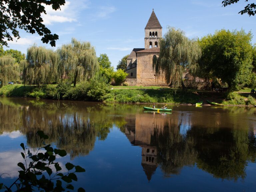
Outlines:
MULTIPOLYGON (((59 35, 56 47, 41 43, 37 34, 20 30, 22 37, 17 42, 9 42, 9 48, 26 53, 30 45, 36 43, 47 48, 57 49, 71 42, 74 37, 89 41, 95 47, 97 56, 106 53, 112 66, 133 48, 144 48, 144 28, 151 15, 152 8, 163 27, 179 28, 189 38, 203 37, 220 29, 243 28, 254 35, 256 43, 256 16, 240 15, 246 2, 222 7, 222 0, 66 0, 61 11, 47 7, 43 16, 45 25, 59 35)), ((249 1, 250 2, 250 1, 249 1)))

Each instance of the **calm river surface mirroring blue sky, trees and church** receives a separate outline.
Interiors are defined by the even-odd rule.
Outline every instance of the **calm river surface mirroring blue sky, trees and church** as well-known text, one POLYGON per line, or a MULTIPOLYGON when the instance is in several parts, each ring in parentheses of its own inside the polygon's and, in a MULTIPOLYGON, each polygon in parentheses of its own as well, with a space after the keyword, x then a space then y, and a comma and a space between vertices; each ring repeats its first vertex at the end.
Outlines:
POLYGON ((0 98, 0 182, 18 176, 21 142, 37 130, 85 168, 90 191, 256 191, 256 108, 143 105, 0 98), (156 106, 161 107, 161 106, 156 106))

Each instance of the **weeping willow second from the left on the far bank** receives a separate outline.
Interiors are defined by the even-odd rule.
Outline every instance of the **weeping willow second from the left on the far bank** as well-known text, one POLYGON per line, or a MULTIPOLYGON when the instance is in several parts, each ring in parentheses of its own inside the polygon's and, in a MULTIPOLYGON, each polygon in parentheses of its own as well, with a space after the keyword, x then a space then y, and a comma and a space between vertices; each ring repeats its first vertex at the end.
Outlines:
POLYGON ((36 45, 28 48, 27 60, 21 62, 23 83, 40 86, 56 81, 58 56, 56 52, 36 45))

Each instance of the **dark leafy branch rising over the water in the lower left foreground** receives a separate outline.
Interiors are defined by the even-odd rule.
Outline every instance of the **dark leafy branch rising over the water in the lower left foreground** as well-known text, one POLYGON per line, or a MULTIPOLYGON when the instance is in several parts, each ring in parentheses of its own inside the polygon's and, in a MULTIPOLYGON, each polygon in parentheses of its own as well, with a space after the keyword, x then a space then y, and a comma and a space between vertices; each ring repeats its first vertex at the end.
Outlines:
MULTIPOLYGON (((25 163, 19 162, 18 166, 22 169, 19 171, 19 177, 8 187, 0 183, 0 190, 6 189, 11 192, 16 186, 15 191, 66 191, 74 190, 72 181, 77 181, 75 173, 85 172, 80 166, 75 166, 72 163, 66 163, 67 173, 61 173, 62 168, 58 162, 55 162, 56 157, 64 157, 67 155, 65 150, 53 149, 51 145, 45 145, 44 140, 48 136, 43 131, 37 131, 41 139, 41 145, 35 155, 32 155, 30 150, 21 143, 23 149, 21 155, 25 163), (42 152, 44 151, 44 152, 42 152), (30 159, 30 160, 29 160, 30 159), (55 170, 53 169, 53 166, 55 170), (66 183, 62 184, 62 181, 66 183)), ((79 188, 78 192, 84 192, 83 188, 79 188)))

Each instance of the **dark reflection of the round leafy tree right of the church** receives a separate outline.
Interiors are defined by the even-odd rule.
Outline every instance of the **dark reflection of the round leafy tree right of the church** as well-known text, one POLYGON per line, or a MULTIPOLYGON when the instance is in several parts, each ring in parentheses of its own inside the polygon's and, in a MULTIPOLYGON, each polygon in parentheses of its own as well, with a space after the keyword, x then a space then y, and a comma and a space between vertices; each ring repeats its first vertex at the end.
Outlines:
POLYGON ((197 166, 217 178, 244 179, 247 161, 255 162, 255 138, 241 129, 218 129, 209 133, 206 128, 192 127, 198 152, 197 166))

